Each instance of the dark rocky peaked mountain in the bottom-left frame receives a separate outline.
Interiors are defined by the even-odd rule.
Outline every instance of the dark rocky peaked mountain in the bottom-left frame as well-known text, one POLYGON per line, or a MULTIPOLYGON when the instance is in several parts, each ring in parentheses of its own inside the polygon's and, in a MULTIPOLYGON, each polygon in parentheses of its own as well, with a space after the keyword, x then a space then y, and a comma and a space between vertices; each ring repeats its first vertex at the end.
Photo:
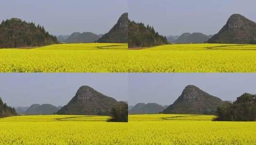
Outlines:
POLYGON ((57 114, 111 115, 111 108, 118 104, 89 86, 81 86, 76 95, 57 114))

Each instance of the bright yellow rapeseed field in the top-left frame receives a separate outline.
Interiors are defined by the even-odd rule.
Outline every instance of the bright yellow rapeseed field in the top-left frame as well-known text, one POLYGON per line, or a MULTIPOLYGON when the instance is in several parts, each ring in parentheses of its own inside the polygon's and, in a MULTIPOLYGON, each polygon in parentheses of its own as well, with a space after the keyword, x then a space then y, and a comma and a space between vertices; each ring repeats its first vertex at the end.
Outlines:
POLYGON ((0 72, 128 72, 128 45, 56 44, 32 49, 0 49, 0 72))

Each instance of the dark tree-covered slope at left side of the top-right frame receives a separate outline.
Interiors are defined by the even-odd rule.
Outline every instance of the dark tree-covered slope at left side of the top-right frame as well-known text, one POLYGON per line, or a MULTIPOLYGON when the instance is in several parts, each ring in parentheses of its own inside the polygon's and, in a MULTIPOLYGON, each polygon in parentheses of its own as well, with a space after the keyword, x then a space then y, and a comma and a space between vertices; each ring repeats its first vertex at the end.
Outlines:
POLYGON ((148 47, 161 44, 167 44, 167 38, 159 35, 155 29, 149 25, 145 27, 144 23, 129 22, 128 31, 129 48, 148 47))

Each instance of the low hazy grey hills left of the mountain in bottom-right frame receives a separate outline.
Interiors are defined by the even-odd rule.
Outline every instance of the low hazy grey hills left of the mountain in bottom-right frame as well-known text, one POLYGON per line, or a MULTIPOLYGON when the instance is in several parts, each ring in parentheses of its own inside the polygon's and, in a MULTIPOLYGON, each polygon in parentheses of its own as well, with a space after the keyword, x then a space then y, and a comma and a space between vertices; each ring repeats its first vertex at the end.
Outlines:
POLYGON ((138 103, 129 110, 129 114, 158 114, 166 107, 156 103, 138 103))

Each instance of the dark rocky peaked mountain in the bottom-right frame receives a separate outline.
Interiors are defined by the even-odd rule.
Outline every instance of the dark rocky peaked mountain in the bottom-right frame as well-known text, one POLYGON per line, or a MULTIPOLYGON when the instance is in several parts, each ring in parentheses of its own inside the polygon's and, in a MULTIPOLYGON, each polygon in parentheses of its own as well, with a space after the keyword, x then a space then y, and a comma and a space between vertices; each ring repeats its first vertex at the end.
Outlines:
POLYGON ((178 99, 169 105, 164 114, 216 114, 224 101, 206 93, 194 85, 185 87, 178 99))

